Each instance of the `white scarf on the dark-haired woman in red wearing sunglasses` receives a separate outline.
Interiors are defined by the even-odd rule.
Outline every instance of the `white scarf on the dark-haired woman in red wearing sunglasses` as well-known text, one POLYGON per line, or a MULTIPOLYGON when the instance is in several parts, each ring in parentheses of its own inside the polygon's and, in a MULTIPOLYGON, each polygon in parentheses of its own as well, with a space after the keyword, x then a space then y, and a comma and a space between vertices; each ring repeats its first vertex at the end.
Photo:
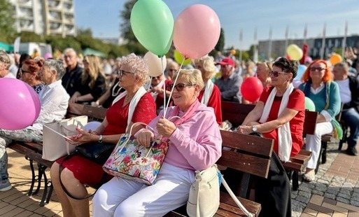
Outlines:
MULTIPOLYGON (((293 84, 290 83, 286 92, 284 92, 281 106, 279 106, 278 116, 286 109, 288 105, 289 95, 293 92, 293 84)), ((276 88, 274 87, 269 94, 265 108, 263 109, 262 116, 260 117, 260 123, 265 123, 269 116, 269 111, 272 108, 274 97, 276 96, 276 88)), ((290 134, 289 122, 285 123, 282 127, 278 128, 278 155, 279 159, 283 162, 288 162, 290 158, 290 151, 292 151, 292 136, 290 134)))

